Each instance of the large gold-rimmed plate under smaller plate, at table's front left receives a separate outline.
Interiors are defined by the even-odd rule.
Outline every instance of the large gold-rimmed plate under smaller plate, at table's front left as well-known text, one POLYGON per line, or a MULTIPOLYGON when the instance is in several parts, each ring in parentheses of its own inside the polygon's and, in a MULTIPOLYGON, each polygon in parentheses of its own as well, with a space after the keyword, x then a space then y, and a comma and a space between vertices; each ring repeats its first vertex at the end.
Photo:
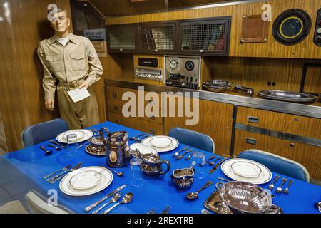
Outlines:
POLYGON ((112 181, 113 181, 113 173, 111 173, 111 171, 106 169, 105 167, 100 167, 100 166, 83 167, 79 170, 70 172, 68 173, 68 175, 63 177, 63 179, 59 183, 59 188, 61 192, 65 193, 66 195, 85 196, 85 195, 92 195, 97 192, 101 192, 102 190, 106 189, 106 187, 111 185, 112 181), (79 172, 83 172, 86 170, 99 172, 101 174, 101 181, 99 181, 97 185, 86 190, 76 190, 73 187, 71 187, 71 185, 69 185, 69 181, 71 180, 71 178, 77 175, 79 172))

